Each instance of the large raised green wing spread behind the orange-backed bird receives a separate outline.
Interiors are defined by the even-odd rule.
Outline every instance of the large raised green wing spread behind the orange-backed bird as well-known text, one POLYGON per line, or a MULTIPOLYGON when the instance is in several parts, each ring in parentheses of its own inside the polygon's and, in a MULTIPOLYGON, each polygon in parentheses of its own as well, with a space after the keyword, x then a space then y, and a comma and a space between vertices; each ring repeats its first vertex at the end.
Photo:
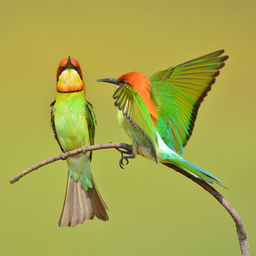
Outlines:
POLYGON ((151 98, 158 109, 157 131, 169 148, 183 153, 195 125, 201 102, 211 90, 218 69, 228 56, 224 50, 203 55, 150 77, 151 98))

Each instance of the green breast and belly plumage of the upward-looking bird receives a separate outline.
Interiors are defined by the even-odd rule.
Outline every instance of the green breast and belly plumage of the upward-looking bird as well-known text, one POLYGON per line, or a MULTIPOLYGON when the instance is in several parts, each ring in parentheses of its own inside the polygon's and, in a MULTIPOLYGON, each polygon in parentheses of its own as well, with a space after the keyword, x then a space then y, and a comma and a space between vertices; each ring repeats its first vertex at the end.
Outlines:
MULTIPOLYGON (((73 93, 57 92, 52 109, 52 124, 63 152, 94 143, 96 118, 82 90, 73 93)), ((70 177, 75 182, 79 181, 85 190, 92 188, 90 160, 91 152, 67 159, 70 177)))

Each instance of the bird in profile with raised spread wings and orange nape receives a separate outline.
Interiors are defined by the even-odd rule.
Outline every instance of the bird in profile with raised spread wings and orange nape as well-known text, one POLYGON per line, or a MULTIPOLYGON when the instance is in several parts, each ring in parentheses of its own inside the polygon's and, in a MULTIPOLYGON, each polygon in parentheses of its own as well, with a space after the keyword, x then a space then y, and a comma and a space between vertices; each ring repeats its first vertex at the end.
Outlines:
POLYGON ((211 90, 228 56, 218 50, 154 73, 125 73, 119 79, 98 79, 119 86, 113 94, 118 123, 131 138, 133 154, 180 168, 207 183, 222 182, 181 157, 191 137, 198 108, 211 90))

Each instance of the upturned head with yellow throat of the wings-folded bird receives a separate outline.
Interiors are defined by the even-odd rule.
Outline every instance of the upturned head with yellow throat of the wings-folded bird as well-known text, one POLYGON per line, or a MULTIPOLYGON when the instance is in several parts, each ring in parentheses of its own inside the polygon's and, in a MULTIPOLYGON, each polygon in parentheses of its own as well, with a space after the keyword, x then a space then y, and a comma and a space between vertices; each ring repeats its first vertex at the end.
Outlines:
POLYGON ((57 91, 73 92, 85 90, 82 70, 79 61, 70 56, 62 60, 57 69, 57 91))

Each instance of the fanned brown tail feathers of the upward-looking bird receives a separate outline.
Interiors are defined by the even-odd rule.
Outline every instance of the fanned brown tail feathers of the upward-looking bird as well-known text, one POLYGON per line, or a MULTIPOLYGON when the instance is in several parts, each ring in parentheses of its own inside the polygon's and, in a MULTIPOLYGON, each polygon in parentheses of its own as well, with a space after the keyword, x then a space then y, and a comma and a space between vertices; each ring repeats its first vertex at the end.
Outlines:
POLYGON ((108 220, 108 207, 102 201, 93 178, 92 183, 93 188, 85 191, 79 182, 75 182, 73 177, 67 175, 67 190, 59 221, 60 227, 75 227, 93 219, 94 216, 103 221, 108 220))

